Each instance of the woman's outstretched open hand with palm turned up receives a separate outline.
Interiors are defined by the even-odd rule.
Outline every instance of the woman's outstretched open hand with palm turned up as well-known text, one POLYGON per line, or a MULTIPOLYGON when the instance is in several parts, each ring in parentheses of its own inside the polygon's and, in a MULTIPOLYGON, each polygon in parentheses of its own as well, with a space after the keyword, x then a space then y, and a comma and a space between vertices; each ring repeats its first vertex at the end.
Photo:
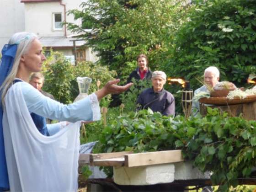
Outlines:
POLYGON ((116 85, 120 80, 110 80, 107 82, 107 84, 100 89, 99 91, 96 91, 95 94, 98 97, 98 100, 101 100, 104 96, 108 94, 118 94, 122 93, 123 91, 126 91, 130 88, 130 86, 133 85, 133 83, 128 83, 123 86, 116 85))

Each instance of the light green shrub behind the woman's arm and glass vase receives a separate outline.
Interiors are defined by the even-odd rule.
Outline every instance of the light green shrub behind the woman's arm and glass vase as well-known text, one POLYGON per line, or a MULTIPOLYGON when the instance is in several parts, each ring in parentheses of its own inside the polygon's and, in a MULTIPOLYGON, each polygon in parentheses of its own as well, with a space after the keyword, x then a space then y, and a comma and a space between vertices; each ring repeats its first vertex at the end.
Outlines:
MULTIPOLYGON (((107 81, 113 80, 116 76, 115 71, 110 71, 107 66, 93 64, 91 62, 81 62, 77 66, 70 63, 69 59, 65 59, 64 55, 59 52, 51 51, 50 56, 44 62, 43 74, 45 82, 43 90, 47 91, 62 103, 72 103, 79 94, 76 77, 87 76, 92 79, 89 94, 95 92, 97 81, 101 81, 99 88, 104 86, 107 81)), ((107 105, 110 96, 102 99, 101 105, 107 105)))

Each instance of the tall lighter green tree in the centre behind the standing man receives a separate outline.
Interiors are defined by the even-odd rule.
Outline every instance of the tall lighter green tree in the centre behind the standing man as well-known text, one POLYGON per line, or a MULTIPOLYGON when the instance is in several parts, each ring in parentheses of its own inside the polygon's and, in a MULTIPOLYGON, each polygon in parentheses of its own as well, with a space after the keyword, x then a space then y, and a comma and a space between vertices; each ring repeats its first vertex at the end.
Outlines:
POLYGON ((80 26, 69 23, 73 32, 97 51, 100 63, 115 69, 123 79, 135 68, 139 53, 149 56, 150 67, 160 69, 162 54, 172 47, 182 23, 186 0, 88 0, 82 11, 71 10, 80 26), (121 70, 120 70, 121 69, 121 70))

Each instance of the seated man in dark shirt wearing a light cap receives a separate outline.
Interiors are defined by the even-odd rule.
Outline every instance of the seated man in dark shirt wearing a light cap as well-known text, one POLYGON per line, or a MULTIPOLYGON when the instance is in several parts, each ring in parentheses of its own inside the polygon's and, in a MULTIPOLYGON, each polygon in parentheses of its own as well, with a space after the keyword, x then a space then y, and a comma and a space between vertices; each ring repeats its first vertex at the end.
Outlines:
POLYGON ((160 112, 165 116, 174 115, 174 96, 163 88, 166 83, 165 72, 154 71, 151 80, 153 87, 144 90, 138 97, 139 109, 150 108, 153 112, 160 112))

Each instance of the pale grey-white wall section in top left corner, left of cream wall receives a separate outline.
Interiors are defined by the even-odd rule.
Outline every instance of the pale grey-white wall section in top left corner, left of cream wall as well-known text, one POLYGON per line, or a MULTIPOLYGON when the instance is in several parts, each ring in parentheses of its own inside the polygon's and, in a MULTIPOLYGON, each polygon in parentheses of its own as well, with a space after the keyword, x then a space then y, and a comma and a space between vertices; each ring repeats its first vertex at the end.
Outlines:
POLYGON ((24 4, 20 0, 0 0, 0 49, 16 32, 25 30, 24 4))

